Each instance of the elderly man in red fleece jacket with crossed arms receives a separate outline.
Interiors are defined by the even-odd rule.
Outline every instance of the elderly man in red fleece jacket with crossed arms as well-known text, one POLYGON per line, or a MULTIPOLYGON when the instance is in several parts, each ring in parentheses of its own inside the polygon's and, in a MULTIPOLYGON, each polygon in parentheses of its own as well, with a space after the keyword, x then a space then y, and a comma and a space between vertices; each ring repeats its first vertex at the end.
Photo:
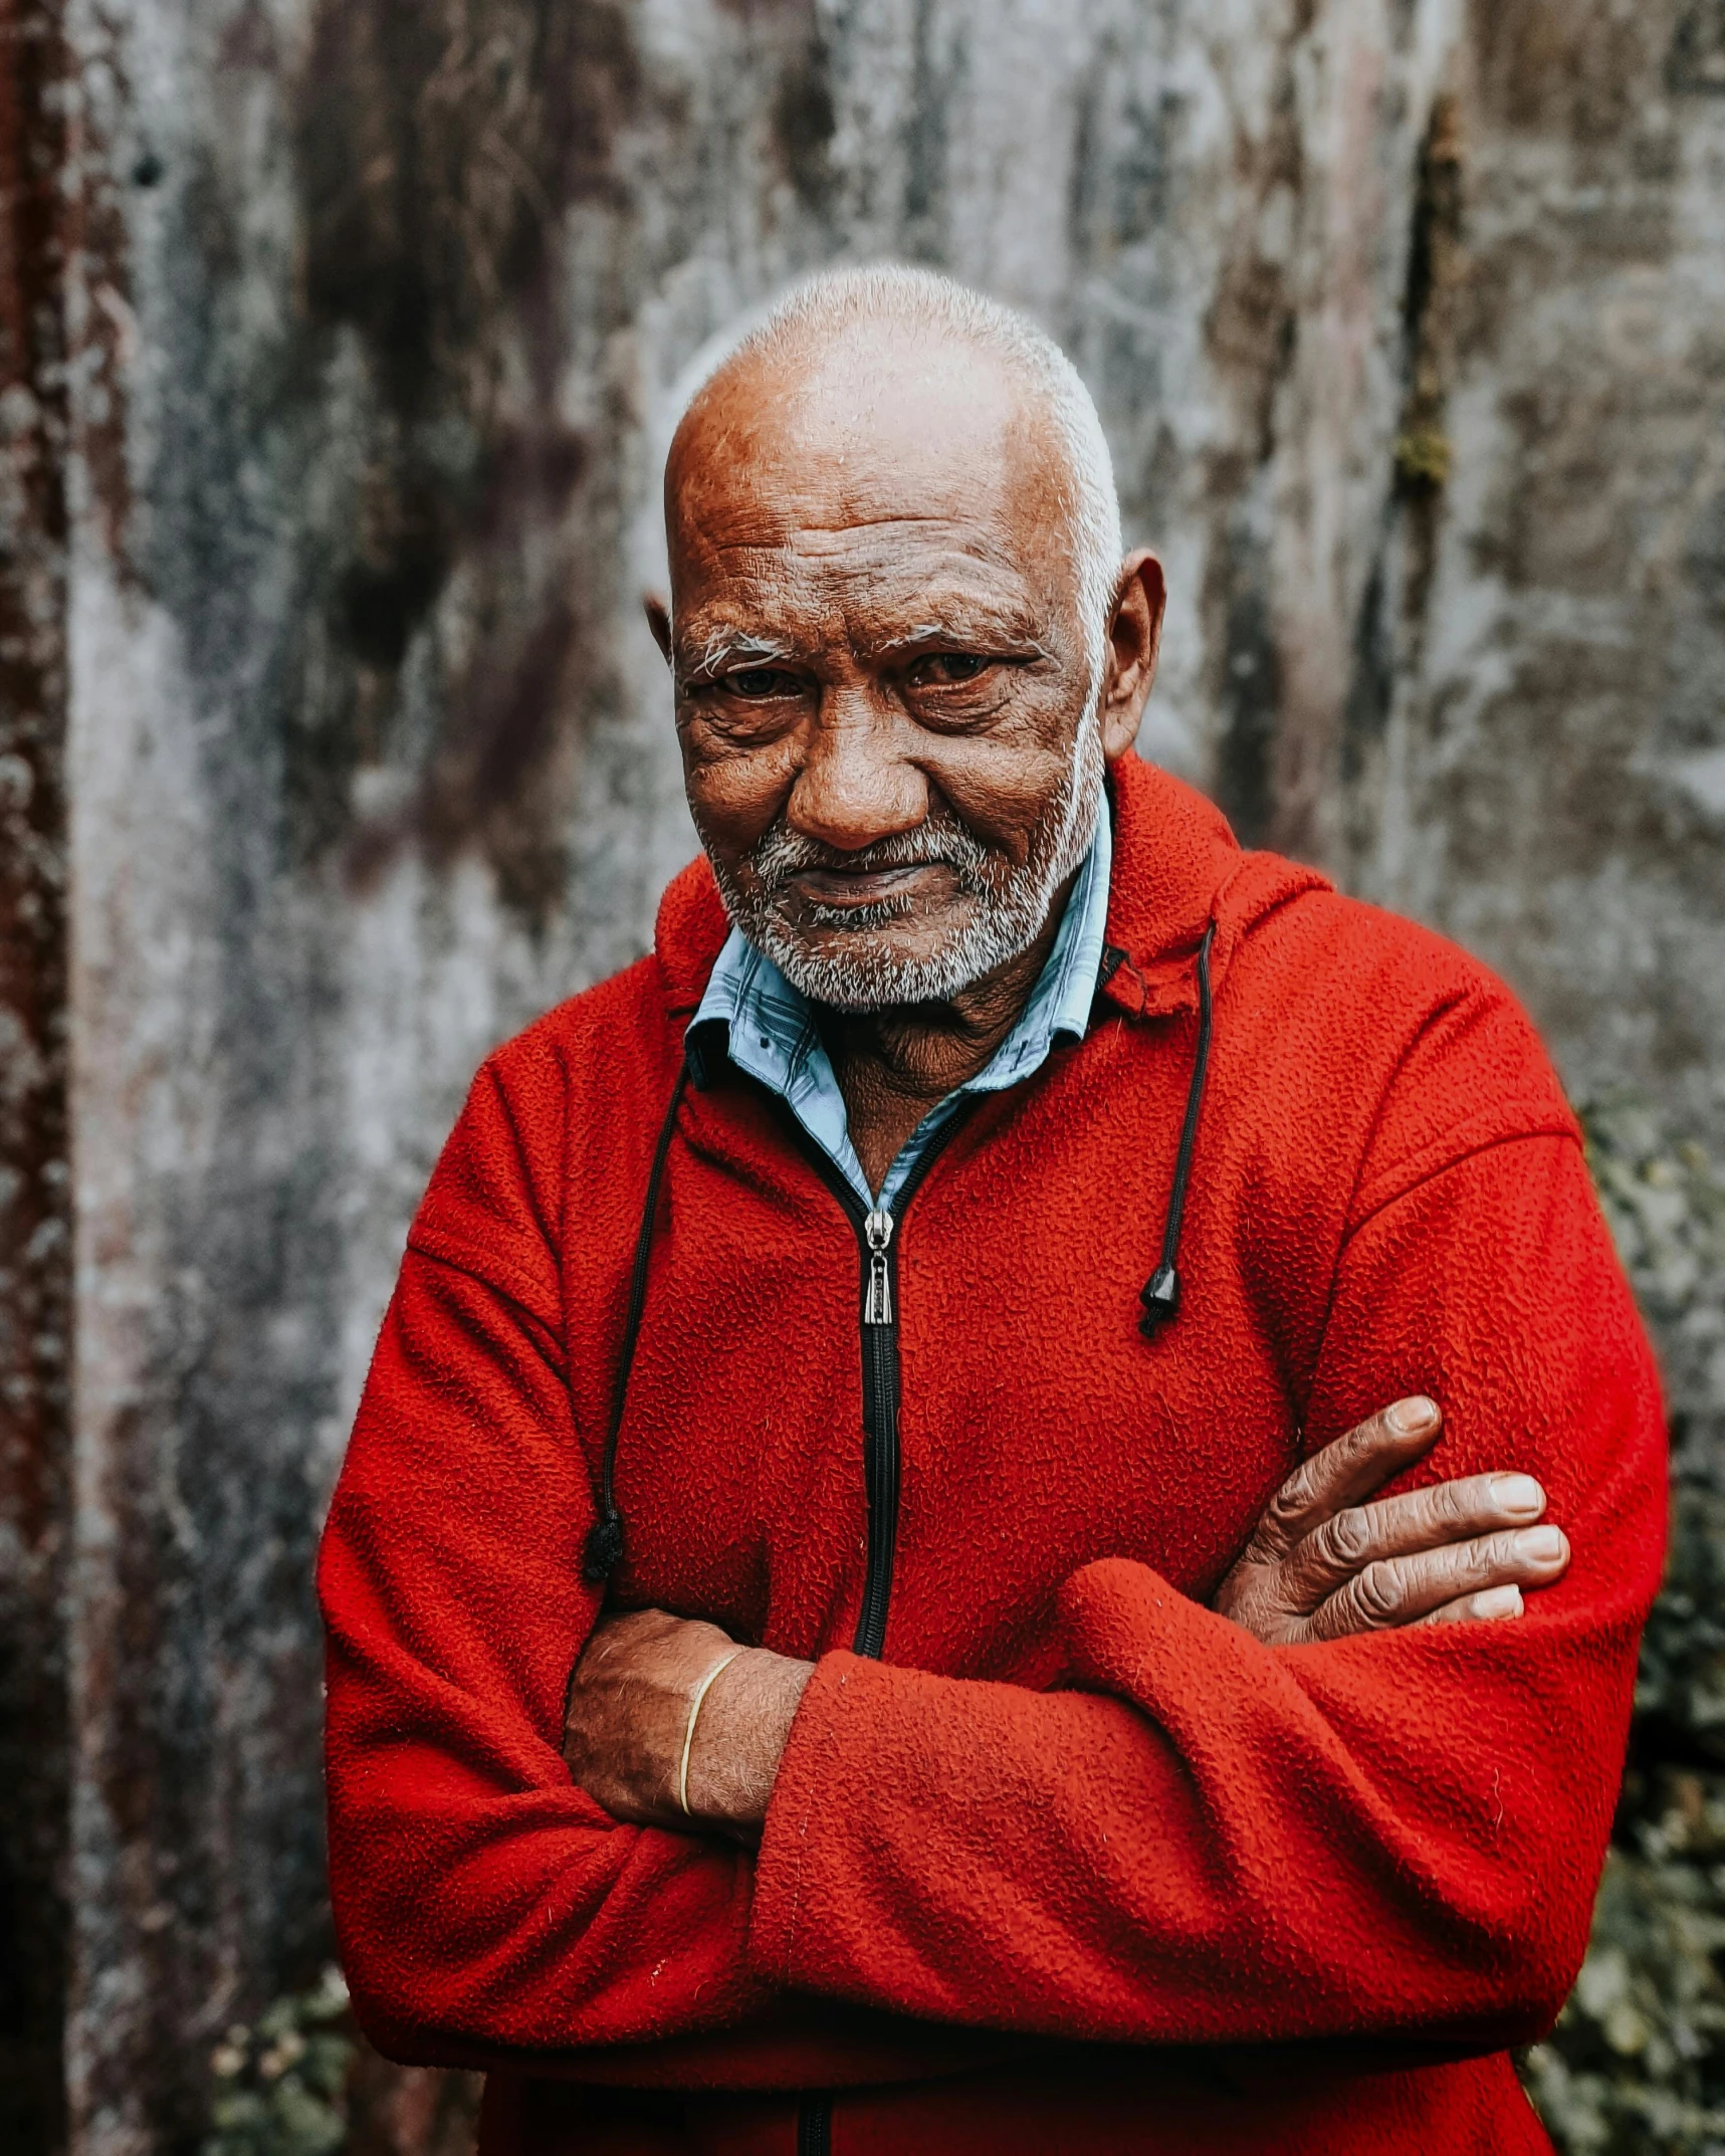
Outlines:
POLYGON ((1009 313, 804 287, 666 515, 705 860, 481 1072, 330 1514, 364 2027, 496 2156, 1546 2147, 1662 1505, 1527 1020, 1132 755, 1009 313))

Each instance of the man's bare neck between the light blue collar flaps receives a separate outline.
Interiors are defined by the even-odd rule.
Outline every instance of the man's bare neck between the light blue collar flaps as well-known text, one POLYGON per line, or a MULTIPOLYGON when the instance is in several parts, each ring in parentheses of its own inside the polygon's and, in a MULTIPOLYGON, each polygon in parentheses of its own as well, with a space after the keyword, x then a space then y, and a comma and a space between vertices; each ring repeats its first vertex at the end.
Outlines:
POLYGON ((929 1108, 985 1069, 1018 1024, 1054 949, 1074 880, 1054 895, 1029 951, 949 1003, 822 1013, 822 1039, 845 1095, 850 1143, 871 1190, 886 1181, 886 1171, 929 1108))

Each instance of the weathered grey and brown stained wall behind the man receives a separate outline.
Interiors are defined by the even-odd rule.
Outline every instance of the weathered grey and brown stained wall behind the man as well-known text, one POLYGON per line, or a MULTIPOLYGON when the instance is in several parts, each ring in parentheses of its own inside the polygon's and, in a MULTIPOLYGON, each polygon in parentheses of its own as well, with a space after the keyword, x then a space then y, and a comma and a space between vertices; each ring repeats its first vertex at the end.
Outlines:
POLYGON ((692 849, 636 595, 740 306, 1031 306, 1169 561, 1149 752, 1721 1134, 1725 6, 0 19, 0 1850, 37 2145, 63 2031, 142 2156, 326 1951, 310 1554, 408 1212, 692 849))

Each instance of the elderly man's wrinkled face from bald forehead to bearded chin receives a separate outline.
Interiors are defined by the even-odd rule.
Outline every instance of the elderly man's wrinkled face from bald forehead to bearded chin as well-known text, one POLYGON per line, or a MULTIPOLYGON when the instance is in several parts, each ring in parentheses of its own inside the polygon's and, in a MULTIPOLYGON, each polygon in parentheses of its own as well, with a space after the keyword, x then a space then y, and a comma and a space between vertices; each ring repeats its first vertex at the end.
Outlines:
POLYGON ((677 729, 744 934, 824 1003, 955 994, 1089 843, 1102 748, 1048 423, 901 334, 720 375, 666 474, 677 729))

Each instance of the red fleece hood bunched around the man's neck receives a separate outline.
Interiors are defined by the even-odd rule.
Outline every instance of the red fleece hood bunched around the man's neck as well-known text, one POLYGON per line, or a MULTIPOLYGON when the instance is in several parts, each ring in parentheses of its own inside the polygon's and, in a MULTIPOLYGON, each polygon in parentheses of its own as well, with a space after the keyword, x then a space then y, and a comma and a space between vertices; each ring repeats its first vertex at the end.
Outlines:
MULTIPOLYGON (((1102 994, 1134 1018, 1197 1003, 1195 957, 1210 921, 1212 981, 1220 983, 1242 938, 1302 890, 1328 890, 1315 869, 1279 854, 1242 852, 1227 817, 1195 787, 1136 755, 1108 772, 1115 873, 1102 994)), ((653 949, 673 1018, 701 1003, 731 923, 705 854, 660 899, 653 949)))

